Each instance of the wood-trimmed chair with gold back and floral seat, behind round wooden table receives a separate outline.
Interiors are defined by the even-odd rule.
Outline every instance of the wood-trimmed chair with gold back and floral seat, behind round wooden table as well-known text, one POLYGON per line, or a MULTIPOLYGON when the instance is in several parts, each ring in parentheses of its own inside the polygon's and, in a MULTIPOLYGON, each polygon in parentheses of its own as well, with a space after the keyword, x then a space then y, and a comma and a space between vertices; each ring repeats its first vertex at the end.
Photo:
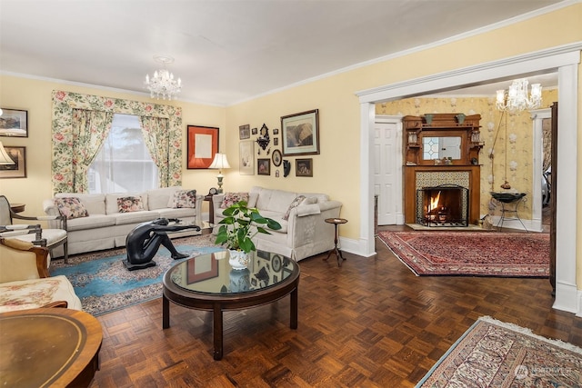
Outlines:
POLYGON ((81 310, 73 285, 50 277, 48 249, 15 238, 0 238, 0 313, 40 307, 81 310))

